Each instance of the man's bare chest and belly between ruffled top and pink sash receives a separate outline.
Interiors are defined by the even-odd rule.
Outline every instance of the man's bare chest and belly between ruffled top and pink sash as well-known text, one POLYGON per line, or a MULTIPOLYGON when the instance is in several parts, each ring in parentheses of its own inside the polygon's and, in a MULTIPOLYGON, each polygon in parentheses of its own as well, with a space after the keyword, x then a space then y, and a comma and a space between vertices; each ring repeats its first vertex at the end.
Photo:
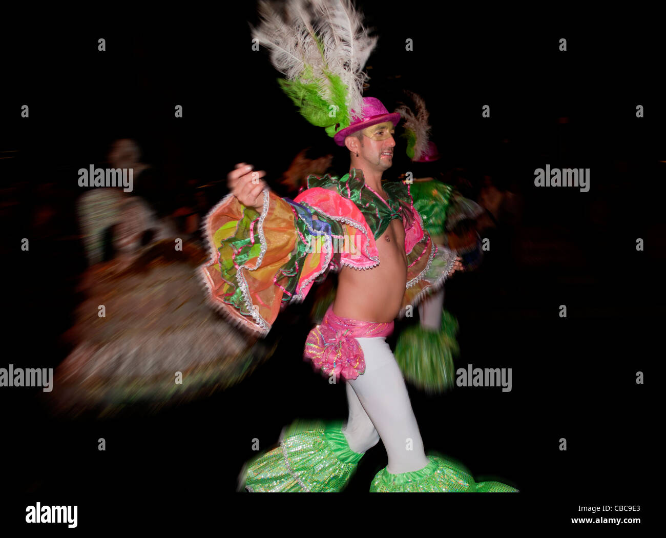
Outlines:
POLYGON ((405 230, 394 219, 375 240, 380 264, 372 269, 343 266, 333 312, 341 318, 374 323, 392 322, 398 316, 407 284, 405 230))

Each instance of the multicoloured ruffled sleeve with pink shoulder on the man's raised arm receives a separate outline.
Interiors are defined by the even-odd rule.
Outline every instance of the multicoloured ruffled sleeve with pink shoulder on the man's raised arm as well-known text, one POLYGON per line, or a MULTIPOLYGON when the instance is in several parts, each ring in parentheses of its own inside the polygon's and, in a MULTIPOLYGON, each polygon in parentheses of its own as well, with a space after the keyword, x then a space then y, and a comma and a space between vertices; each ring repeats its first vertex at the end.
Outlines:
POLYGON ((265 336, 282 306, 302 301, 328 270, 376 264, 374 238, 364 233, 364 222, 357 222, 362 214, 323 190, 299 196, 298 203, 266 189, 261 213, 229 194, 206 217, 210 260, 200 274, 212 304, 236 326, 265 336), (340 259, 336 243, 345 236, 360 249, 340 259))

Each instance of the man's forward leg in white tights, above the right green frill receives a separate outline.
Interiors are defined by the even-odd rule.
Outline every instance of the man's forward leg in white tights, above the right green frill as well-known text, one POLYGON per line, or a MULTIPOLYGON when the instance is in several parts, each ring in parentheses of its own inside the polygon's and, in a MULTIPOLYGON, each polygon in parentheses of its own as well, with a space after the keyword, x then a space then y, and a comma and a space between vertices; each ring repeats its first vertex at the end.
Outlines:
MULTIPOLYGON (((424 451, 407 387, 391 348, 384 338, 357 340, 363 350, 366 370, 355 380, 348 381, 348 385, 382 438, 388 455, 388 472, 398 474, 423 469, 430 460, 424 451)), ((364 413, 352 409, 354 404, 355 400, 350 399, 350 421, 354 421, 352 425, 348 424, 350 431, 354 431, 356 423, 366 424, 364 413)))

